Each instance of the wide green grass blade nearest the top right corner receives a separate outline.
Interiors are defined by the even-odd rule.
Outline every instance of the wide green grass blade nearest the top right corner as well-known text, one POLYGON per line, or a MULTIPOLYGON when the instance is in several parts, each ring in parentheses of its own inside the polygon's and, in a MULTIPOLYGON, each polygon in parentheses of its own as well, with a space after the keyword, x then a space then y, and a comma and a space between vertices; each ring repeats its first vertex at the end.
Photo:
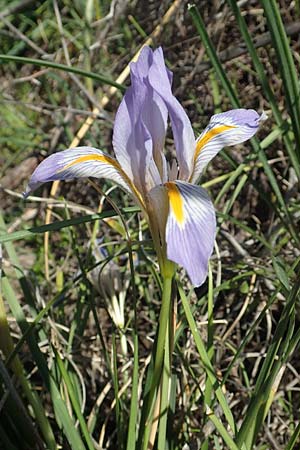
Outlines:
MULTIPOLYGON (((296 142, 300 142, 300 85, 291 47, 284 29, 276 0, 261 0, 268 21, 273 45, 279 62, 285 98, 292 119, 296 142)), ((300 148, 296 146, 297 158, 300 161, 300 148)))

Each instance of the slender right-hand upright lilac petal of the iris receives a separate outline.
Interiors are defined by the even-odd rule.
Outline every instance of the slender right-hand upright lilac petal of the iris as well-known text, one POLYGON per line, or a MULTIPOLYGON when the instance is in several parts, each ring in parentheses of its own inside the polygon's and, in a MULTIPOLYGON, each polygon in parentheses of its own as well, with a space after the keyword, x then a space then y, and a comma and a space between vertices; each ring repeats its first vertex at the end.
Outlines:
POLYGON ((153 53, 149 82, 167 105, 179 164, 179 178, 187 181, 193 168, 195 136, 186 112, 172 94, 171 77, 165 66, 161 48, 153 53))

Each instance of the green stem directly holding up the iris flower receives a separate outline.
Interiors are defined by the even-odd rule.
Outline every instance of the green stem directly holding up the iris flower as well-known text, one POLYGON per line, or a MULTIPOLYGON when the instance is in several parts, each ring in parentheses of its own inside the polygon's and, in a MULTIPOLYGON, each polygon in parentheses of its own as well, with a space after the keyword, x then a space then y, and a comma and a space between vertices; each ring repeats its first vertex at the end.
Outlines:
POLYGON ((153 409, 157 400, 158 387, 161 381, 161 375, 164 369, 166 333, 168 331, 168 322, 170 317, 172 279, 174 274, 174 264, 168 260, 164 260, 161 267, 163 275, 163 292, 162 303, 159 316, 159 329, 156 340, 156 354, 154 360, 154 369, 152 375, 152 383, 146 401, 146 424, 144 429, 143 449, 148 448, 148 440, 152 426, 153 409))

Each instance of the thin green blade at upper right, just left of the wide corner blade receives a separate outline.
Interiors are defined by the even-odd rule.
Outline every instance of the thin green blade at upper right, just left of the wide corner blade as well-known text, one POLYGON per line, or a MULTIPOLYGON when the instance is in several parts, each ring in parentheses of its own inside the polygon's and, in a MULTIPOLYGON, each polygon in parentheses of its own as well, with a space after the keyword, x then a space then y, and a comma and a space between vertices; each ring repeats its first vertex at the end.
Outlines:
POLYGON ((242 16, 241 12, 240 12, 240 9, 239 9, 239 7, 237 5, 236 0, 227 0, 227 1, 228 1, 229 5, 230 5, 234 15, 235 15, 235 18, 236 18, 237 23, 239 25, 240 32, 241 32, 241 34, 242 34, 242 36, 244 38, 244 41, 245 41, 245 43, 247 45, 249 54, 251 56, 251 60, 253 62, 253 65, 254 65, 256 73, 257 73, 257 76, 258 76, 259 81, 260 81, 260 83, 262 85, 263 92, 266 95, 266 97, 267 97, 267 99, 269 101, 269 104, 270 104, 270 106, 272 108, 272 113, 273 113, 273 116, 274 116, 274 118, 276 120, 276 123, 277 123, 279 129, 283 131, 283 140, 284 140, 285 148, 287 149, 287 152, 288 152, 288 155, 290 157, 291 163, 292 163, 292 165, 293 165, 293 167, 295 169, 295 172, 296 172, 296 174, 298 176, 298 179, 300 180, 300 163, 299 163, 300 158, 299 158, 299 155, 296 154, 295 149, 294 149, 294 145, 292 144, 288 133, 284 132, 284 129, 287 128, 286 127, 287 124, 284 121, 284 119, 282 117, 282 114, 281 114, 281 112, 280 112, 280 110, 279 110, 279 108, 277 106, 278 102, 276 101, 276 98, 275 98, 274 93, 273 93, 273 91, 271 89, 271 86, 269 84, 269 81, 268 81, 268 78, 266 76, 266 73, 264 71, 264 67, 263 67, 263 65, 262 65, 262 63, 261 63, 261 61, 260 61, 260 59, 258 57, 257 51, 256 51, 256 49, 254 47, 253 41, 251 39, 250 33, 249 33, 247 25, 246 25, 246 21, 245 21, 244 17, 242 16))

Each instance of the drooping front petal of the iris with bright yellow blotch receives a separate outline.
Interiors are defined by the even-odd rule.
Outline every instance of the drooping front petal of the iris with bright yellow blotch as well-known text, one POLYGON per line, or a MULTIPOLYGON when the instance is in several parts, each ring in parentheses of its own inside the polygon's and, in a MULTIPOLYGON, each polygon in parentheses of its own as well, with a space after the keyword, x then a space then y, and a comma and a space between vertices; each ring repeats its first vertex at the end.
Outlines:
POLYGON ((207 277, 216 234, 213 204, 199 186, 176 181, 165 187, 169 198, 167 257, 184 267, 191 282, 200 286, 207 277))

